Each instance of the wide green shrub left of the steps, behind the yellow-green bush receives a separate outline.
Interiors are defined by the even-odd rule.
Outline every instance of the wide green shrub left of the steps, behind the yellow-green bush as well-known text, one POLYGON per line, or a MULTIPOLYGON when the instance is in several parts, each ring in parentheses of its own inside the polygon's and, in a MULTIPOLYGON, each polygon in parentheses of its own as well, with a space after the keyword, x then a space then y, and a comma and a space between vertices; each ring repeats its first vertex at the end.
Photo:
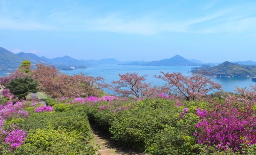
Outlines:
POLYGON ((88 118, 81 112, 43 112, 33 113, 29 118, 19 122, 18 125, 26 130, 45 129, 49 124, 54 129, 66 129, 67 132, 77 131, 82 133, 84 139, 92 139, 92 131, 88 118))

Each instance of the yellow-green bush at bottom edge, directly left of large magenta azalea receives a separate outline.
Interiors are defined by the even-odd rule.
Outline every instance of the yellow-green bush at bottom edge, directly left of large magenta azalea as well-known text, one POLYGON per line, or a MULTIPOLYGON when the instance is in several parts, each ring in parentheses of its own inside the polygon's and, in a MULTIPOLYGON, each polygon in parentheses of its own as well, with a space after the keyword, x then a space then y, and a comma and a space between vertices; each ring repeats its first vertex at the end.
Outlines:
POLYGON ((188 113, 181 115, 176 122, 176 127, 167 127, 158 132, 149 141, 150 147, 146 149, 150 155, 194 155, 196 154, 195 125, 199 118, 194 115, 194 109, 188 109, 188 113))

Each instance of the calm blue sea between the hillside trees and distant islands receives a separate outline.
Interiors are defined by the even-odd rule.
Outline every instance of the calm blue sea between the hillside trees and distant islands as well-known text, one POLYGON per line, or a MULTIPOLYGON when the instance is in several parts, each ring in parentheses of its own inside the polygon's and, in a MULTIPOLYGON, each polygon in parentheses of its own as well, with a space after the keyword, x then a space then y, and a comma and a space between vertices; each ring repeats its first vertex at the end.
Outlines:
MULTIPOLYGON (((112 80, 118 80, 118 73, 139 73, 139 75, 148 75, 147 82, 152 82, 152 86, 162 86, 165 82, 161 79, 154 78, 154 75, 162 75, 160 71, 164 73, 180 72, 183 75, 190 76, 191 68, 195 66, 125 66, 125 65, 98 65, 87 67, 87 69, 74 69, 72 71, 61 71, 68 75, 74 75, 84 73, 89 76, 98 77, 101 76, 105 79, 105 82, 111 84, 112 80)), ((0 74, 5 76, 8 74, 0 74)), ((223 90, 228 92, 234 92, 235 86, 246 87, 256 84, 252 81, 252 78, 248 77, 211 77, 213 81, 222 84, 223 90)), ((109 90, 106 90, 110 93, 109 90)))

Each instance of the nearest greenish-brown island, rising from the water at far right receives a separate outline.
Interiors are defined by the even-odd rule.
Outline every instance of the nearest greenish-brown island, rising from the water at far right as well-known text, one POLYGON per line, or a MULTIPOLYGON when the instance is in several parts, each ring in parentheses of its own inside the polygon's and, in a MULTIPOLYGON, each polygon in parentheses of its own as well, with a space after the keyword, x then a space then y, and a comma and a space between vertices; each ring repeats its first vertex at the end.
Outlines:
MULTIPOLYGON (((193 68, 192 72, 198 71, 200 67, 193 68)), ((230 63, 225 61, 224 63, 214 66, 208 67, 206 69, 202 69, 201 71, 208 71, 212 75, 222 76, 222 77, 254 77, 256 76, 256 66, 254 65, 236 65, 234 63, 230 63)))

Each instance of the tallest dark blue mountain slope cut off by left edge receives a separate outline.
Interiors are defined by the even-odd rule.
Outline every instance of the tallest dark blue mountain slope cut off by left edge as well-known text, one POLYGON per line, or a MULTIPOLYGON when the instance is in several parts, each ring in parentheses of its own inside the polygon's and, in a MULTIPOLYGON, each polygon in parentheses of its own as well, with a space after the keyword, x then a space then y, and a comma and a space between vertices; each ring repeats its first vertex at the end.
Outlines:
POLYGON ((14 53, 0 47, 0 69, 15 69, 19 67, 22 59, 14 53))

